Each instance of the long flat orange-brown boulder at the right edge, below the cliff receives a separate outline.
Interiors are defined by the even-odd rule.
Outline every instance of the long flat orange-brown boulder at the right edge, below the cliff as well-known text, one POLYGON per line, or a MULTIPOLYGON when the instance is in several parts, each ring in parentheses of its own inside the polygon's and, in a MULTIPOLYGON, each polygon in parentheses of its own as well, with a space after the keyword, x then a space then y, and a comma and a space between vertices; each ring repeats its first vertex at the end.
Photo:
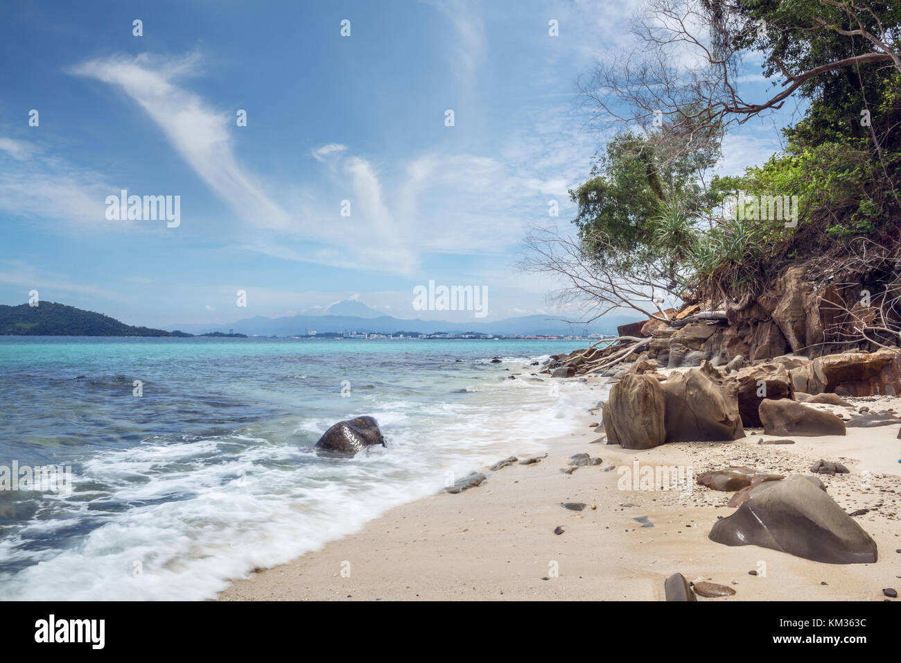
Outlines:
POLYGON ((901 353, 841 353, 817 357, 789 371, 795 391, 818 394, 842 389, 854 396, 901 393, 901 353))

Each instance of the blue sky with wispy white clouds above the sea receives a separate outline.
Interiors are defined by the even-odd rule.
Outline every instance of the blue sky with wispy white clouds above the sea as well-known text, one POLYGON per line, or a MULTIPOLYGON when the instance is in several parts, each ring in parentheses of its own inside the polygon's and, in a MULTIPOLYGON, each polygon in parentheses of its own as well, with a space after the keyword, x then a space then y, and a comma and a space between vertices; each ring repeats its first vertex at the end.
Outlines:
MULTIPOLYGON (((483 289, 484 321, 551 315, 554 283, 514 264, 528 226, 571 226, 609 135, 578 78, 639 5, 5 2, 0 303, 164 328, 345 299, 474 319, 414 309, 434 281, 483 289), (178 197, 177 225, 110 218, 123 189, 178 197)), ((746 124, 721 171, 778 146, 772 119, 746 124)))

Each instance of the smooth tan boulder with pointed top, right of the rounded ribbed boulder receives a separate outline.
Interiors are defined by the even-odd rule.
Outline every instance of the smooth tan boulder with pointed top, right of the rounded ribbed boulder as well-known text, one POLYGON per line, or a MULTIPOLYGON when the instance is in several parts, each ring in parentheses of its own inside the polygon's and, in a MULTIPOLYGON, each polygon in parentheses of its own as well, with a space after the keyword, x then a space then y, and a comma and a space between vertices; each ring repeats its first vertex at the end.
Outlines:
POLYGON ((661 382, 666 403, 666 441, 701 442, 744 437, 738 399, 708 362, 661 382))

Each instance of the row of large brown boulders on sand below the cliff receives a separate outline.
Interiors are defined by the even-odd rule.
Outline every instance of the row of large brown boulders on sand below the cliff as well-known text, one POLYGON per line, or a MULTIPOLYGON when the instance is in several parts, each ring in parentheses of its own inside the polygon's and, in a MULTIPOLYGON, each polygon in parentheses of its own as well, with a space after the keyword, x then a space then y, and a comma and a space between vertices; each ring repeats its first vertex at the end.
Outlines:
POLYGON ((868 384, 849 378, 892 365, 895 355, 829 355, 792 368, 799 360, 784 357, 731 371, 702 361, 669 374, 660 373, 654 360, 642 360, 614 382, 602 406, 602 424, 608 444, 646 449, 666 442, 733 440, 744 437, 745 427, 772 436, 842 436, 849 427, 901 423, 891 413, 852 414, 853 406, 836 391, 825 391, 868 384), (845 416, 815 405, 842 406, 845 416))

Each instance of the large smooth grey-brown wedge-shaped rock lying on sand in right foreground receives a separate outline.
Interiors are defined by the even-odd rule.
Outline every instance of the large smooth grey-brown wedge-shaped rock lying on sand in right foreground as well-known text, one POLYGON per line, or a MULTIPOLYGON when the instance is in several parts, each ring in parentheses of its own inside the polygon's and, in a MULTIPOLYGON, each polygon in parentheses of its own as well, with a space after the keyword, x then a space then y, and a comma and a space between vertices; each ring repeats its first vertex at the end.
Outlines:
POLYGON ((878 557, 876 541, 803 476, 761 483, 738 511, 714 523, 710 539, 827 564, 870 564, 878 557))

